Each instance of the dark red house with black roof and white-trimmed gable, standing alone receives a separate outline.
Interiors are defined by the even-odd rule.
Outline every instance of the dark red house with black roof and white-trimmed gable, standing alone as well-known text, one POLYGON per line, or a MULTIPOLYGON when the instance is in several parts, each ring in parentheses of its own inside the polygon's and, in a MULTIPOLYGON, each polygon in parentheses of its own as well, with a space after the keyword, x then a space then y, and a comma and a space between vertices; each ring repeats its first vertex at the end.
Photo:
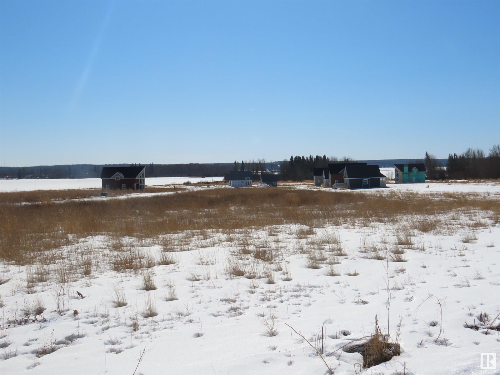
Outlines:
POLYGON ((103 166, 100 173, 102 190, 144 190, 145 166, 103 166))

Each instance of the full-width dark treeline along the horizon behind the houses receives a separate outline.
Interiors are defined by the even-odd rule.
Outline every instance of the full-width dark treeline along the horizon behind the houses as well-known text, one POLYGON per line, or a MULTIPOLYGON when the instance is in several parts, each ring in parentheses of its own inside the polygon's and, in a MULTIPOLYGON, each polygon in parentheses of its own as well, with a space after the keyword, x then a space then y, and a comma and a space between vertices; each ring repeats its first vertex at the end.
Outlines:
POLYGON ((230 170, 251 170, 252 173, 263 171, 279 172, 280 180, 304 180, 312 178, 312 168, 326 167, 332 162, 361 161, 378 164, 380 167, 392 167, 394 164, 424 162, 427 179, 473 179, 500 178, 500 144, 489 149, 488 155, 479 148, 468 148, 461 154, 449 154, 447 159, 438 159, 425 152, 424 159, 378 159, 354 160, 351 157, 299 156, 291 155, 283 161, 267 162, 264 158, 242 160, 241 163, 188 163, 188 164, 72 164, 38 165, 11 167, 0 166, 0 178, 95 178, 100 177, 103 166, 140 166, 146 167, 147 177, 214 177, 222 176, 230 170))

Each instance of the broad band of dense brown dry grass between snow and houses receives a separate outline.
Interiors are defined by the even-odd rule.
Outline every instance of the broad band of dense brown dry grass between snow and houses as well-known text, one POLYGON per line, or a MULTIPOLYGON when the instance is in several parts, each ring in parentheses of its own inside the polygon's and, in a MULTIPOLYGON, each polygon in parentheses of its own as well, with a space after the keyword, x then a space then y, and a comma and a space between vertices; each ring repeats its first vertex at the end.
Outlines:
MULTIPOLYGON (((59 197, 66 193, 61 194, 59 197)), ((500 220, 500 201, 485 194, 472 193, 360 194, 283 187, 206 189, 141 198, 69 200, 57 204, 40 200, 25 205, 0 204, 0 258, 3 260, 18 264, 52 264, 54 256, 58 256, 53 249, 78 243, 90 235, 161 241, 165 234, 206 233, 210 230, 230 235, 245 228, 279 224, 304 225, 306 229, 299 234, 311 235, 314 231, 310 228, 325 225, 362 227, 374 222, 411 222, 409 218, 415 215, 435 217, 447 214, 452 217, 455 214, 459 223, 450 218, 447 225, 435 228, 445 231, 458 224, 461 229, 466 229, 467 222, 476 229, 479 214, 484 225, 500 220), (467 217, 474 221, 466 220, 467 217)), ((421 229, 434 230, 434 225, 421 229)), ((337 242, 337 238, 330 239, 337 242)), ((398 239, 405 242, 408 238, 401 236, 398 239)), ((121 241, 117 246, 120 249, 125 247, 115 264, 117 270, 137 269, 155 263, 155 259, 149 259, 140 249, 127 248, 121 241)), ((186 245, 175 243, 172 246, 186 245)), ((170 244, 163 243, 164 251, 169 247, 170 244)), ((257 258, 274 256, 274 251, 269 251, 266 244, 253 255, 257 258)), ((82 272, 91 271, 91 266, 87 259, 82 272)))

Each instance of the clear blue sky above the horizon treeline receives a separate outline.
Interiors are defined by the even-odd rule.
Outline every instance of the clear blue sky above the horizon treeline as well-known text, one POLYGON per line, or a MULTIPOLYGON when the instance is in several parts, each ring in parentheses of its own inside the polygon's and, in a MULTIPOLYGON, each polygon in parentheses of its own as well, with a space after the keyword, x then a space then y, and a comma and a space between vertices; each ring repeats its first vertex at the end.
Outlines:
POLYGON ((500 142, 500 1, 0 1, 0 163, 500 142))

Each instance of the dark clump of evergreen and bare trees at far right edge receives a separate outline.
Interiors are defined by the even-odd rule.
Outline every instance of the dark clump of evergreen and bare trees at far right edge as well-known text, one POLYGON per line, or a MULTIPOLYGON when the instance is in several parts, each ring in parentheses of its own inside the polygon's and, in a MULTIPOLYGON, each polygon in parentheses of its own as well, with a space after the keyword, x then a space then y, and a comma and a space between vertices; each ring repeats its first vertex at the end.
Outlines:
POLYGON ((500 144, 493 145, 487 156, 480 148, 450 153, 446 174, 453 179, 500 178, 500 144))

